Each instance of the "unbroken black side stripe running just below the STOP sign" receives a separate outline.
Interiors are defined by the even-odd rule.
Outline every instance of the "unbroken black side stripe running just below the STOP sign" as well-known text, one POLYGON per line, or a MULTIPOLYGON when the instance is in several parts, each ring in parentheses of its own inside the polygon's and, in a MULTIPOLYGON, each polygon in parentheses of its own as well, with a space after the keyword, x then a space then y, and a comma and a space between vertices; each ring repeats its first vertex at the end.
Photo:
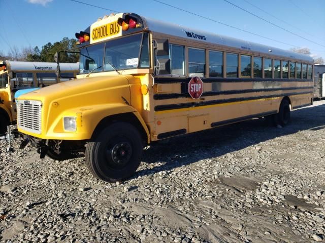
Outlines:
POLYGON ((222 99, 222 100, 209 100, 209 101, 203 101, 203 102, 189 102, 189 103, 180 103, 180 104, 171 104, 171 105, 157 105, 154 107, 154 110, 155 111, 173 110, 173 109, 182 109, 182 108, 189 108, 189 107, 200 107, 200 106, 206 106, 206 105, 224 104, 224 103, 231 103, 231 102, 237 102, 237 101, 249 101, 249 100, 266 99, 266 98, 274 98, 274 97, 282 97, 282 96, 290 96, 290 95, 303 95, 303 94, 311 94, 311 93, 310 92, 296 92, 296 93, 286 93, 286 94, 276 94, 276 95, 231 98, 231 99, 222 99))

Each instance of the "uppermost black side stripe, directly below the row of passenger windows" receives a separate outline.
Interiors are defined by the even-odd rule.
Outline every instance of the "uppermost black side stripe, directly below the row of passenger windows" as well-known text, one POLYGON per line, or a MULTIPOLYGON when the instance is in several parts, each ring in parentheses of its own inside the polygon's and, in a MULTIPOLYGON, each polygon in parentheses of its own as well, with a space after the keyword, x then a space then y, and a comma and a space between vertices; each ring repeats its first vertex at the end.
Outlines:
MULTIPOLYGON (((191 77, 155 77, 155 84, 174 84, 188 83, 191 77)), ((241 83, 241 82, 313 82, 313 79, 301 78, 204 78, 201 77, 203 83, 241 83)))

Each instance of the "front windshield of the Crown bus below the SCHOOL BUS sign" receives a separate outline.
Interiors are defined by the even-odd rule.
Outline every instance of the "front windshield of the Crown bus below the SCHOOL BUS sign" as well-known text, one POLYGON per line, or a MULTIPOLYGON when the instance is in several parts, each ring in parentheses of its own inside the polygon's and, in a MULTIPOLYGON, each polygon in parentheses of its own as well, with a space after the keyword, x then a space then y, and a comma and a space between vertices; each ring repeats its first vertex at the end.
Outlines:
POLYGON ((80 50, 80 73, 149 66, 148 33, 134 34, 80 50))

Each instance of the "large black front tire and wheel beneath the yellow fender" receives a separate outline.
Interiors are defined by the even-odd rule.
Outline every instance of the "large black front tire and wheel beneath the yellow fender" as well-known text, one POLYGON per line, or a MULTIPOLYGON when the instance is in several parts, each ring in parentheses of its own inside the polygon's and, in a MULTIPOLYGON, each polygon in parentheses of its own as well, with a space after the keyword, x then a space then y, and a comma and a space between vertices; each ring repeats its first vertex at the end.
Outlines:
POLYGON ((91 173, 107 182, 122 181, 138 169, 143 152, 139 131, 128 123, 109 125, 86 146, 86 163, 91 173))

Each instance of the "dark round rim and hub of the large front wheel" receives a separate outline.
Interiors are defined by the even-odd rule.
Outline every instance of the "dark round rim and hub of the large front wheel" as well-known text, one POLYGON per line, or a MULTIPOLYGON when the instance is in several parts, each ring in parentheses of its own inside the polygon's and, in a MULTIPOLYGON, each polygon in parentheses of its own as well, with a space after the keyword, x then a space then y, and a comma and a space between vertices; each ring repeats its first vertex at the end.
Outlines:
POLYGON ((106 149, 106 160, 109 168, 122 169, 132 157, 132 145, 126 138, 112 141, 106 149))

